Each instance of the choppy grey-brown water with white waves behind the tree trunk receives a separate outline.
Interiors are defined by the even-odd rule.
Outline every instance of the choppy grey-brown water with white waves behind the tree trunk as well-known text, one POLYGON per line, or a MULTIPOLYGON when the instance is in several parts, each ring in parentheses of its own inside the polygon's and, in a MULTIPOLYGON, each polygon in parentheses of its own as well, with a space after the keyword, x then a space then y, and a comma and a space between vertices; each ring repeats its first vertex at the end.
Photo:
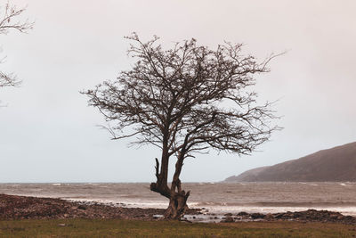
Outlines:
MULTIPOLYGON (((329 209, 356 217, 356 183, 187 183, 191 208, 211 213, 281 212, 329 209)), ((116 206, 166 208, 168 201, 150 192, 149 183, 0 184, 0 193, 97 201, 116 206)))

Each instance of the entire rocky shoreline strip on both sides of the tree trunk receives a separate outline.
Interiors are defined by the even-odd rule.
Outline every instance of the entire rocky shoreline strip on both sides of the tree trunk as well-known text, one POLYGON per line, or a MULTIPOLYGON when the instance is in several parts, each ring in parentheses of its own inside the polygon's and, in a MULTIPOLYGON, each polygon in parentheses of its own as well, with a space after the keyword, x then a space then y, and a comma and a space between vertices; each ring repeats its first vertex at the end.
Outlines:
MULTIPOLYGON (((154 220, 162 216, 165 209, 123 208, 95 202, 64 201, 53 198, 25 197, 0 194, 0 220, 8 219, 61 219, 61 218, 122 218, 154 220)), ((218 217, 206 214, 204 209, 190 209, 187 213, 194 221, 194 216, 207 215, 207 219, 215 222, 218 217)), ((356 217, 344 216, 339 212, 308 209, 305 211, 283 212, 273 214, 227 213, 221 222, 241 221, 300 221, 328 222, 356 225, 356 217)))

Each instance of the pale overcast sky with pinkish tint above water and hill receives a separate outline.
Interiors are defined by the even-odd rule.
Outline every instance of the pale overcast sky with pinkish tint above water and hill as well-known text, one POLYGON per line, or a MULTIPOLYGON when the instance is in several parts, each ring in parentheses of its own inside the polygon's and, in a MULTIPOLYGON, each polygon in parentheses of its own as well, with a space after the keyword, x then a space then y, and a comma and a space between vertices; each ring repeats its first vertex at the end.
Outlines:
MULTIPOLYGON (((4 4, 4 1, 0 2, 4 4)), ((78 92, 130 69, 124 36, 194 37, 212 48, 243 43, 263 60, 261 101, 279 100, 282 131, 251 156, 211 152, 188 159, 182 181, 221 181, 260 166, 356 141, 356 1, 12 0, 36 21, 0 36, 0 70, 23 84, 0 89, 0 182, 150 182, 150 146, 111 141, 101 114, 78 92)))

